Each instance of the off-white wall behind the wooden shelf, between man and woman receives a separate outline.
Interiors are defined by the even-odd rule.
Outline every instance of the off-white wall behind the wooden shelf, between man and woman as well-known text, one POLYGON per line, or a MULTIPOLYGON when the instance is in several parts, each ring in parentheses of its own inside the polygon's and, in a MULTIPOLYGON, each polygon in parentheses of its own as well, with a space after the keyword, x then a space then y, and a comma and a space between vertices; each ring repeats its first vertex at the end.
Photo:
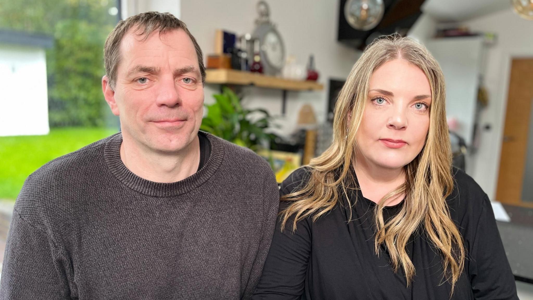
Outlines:
MULTIPOLYGON (((214 52, 215 29, 226 29, 238 34, 254 29, 256 1, 182 1, 181 19, 196 37, 204 56, 214 52)), ((298 110, 310 103, 319 122, 326 119, 329 78, 345 79, 360 56, 360 51, 337 42, 338 3, 322 0, 282 1, 270 0, 270 19, 276 23, 287 54, 294 54, 298 63, 306 64, 314 54, 315 66, 320 73, 319 82, 324 90, 319 92, 288 92, 287 114, 278 123, 281 135, 295 129, 298 110)), ((205 99, 211 101, 219 86, 206 85, 205 99)), ((271 114, 281 113, 281 91, 247 87, 243 104, 266 108, 271 114)))

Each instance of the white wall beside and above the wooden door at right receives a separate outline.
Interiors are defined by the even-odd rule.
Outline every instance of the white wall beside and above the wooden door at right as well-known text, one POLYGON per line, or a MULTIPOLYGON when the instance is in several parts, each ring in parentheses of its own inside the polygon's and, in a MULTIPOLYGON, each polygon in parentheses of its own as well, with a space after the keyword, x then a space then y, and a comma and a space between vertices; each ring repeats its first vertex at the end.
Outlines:
POLYGON ((481 136, 475 159, 475 170, 471 174, 488 194, 496 200, 500 150, 505 124, 510 57, 533 57, 533 21, 520 18, 511 10, 504 10, 465 22, 472 31, 497 34, 495 45, 486 47, 482 73, 488 89, 489 105, 480 115, 481 136), (490 124, 490 130, 483 130, 490 124))

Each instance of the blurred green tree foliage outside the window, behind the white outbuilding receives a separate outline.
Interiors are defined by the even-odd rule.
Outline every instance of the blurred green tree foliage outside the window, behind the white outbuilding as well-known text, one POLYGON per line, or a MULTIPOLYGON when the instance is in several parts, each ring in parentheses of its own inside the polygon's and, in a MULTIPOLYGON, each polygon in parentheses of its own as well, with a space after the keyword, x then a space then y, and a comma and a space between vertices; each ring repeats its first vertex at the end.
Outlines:
POLYGON ((46 51, 52 127, 101 126, 103 44, 115 27, 115 0, 0 0, 0 29, 50 35, 46 51))

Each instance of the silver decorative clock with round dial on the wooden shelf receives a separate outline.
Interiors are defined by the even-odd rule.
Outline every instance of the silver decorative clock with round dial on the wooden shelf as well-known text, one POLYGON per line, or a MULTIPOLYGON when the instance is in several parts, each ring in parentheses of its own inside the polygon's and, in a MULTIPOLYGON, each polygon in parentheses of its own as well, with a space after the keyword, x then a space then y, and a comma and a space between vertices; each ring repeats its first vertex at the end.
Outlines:
POLYGON ((285 65, 285 45, 276 26, 270 21, 270 9, 265 1, 257 3, 259 18, 255 20, 253 36, 259 40, 263 73, 277 75, 285 65))

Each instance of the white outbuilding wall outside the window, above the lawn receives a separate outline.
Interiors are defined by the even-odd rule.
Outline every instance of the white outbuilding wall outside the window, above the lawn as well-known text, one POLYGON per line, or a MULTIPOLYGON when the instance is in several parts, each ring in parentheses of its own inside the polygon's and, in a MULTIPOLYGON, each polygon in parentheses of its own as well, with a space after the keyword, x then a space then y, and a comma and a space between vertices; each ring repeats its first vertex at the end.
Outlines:
POLYGON ((44 49, 0 44, 0 136, 47 135, 44 49))

